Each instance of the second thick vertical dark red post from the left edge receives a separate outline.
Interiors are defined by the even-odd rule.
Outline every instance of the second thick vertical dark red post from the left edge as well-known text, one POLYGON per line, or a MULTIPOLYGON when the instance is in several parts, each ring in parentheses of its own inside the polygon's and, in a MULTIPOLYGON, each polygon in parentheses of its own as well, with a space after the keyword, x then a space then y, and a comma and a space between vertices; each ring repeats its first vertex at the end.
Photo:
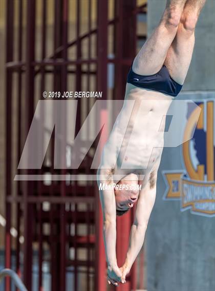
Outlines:
MULTIPOLYGON (((25 137, 31 125, 34 114, 34 67, 35 56, 35 0, 27 2, 27 35, 26 35, 26 96, 25 103, 25 137)), ((26 171, 31 174, 31 170, 26 171)), ((24 283, 27 289, 32 288, 32 215, 33 206, 27 203, 27 197, 33 192, 33 183, 24 183, 24 283)))

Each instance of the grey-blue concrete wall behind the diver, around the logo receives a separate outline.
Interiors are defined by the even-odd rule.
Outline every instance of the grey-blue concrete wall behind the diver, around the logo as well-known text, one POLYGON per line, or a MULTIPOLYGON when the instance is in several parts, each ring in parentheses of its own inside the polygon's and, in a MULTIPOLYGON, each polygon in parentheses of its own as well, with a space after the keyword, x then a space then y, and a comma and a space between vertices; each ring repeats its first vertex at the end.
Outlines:
MULTIPOLYGON (((158 24, 164 7, 163 0, 148 1, 148 33, 158 24)), ((208 0, 196 30, 196 47, 183 87, 184 92, 193 91, 184 95, 193 101, 215 96, 214 11, 215 1, 208 0)), ((146 235, 148 291, 215 290, 214 217, 181 212, 180 201, 163 200, 166 185, 161 171, 181 169, 181 148, 165 148, 146 235)))

